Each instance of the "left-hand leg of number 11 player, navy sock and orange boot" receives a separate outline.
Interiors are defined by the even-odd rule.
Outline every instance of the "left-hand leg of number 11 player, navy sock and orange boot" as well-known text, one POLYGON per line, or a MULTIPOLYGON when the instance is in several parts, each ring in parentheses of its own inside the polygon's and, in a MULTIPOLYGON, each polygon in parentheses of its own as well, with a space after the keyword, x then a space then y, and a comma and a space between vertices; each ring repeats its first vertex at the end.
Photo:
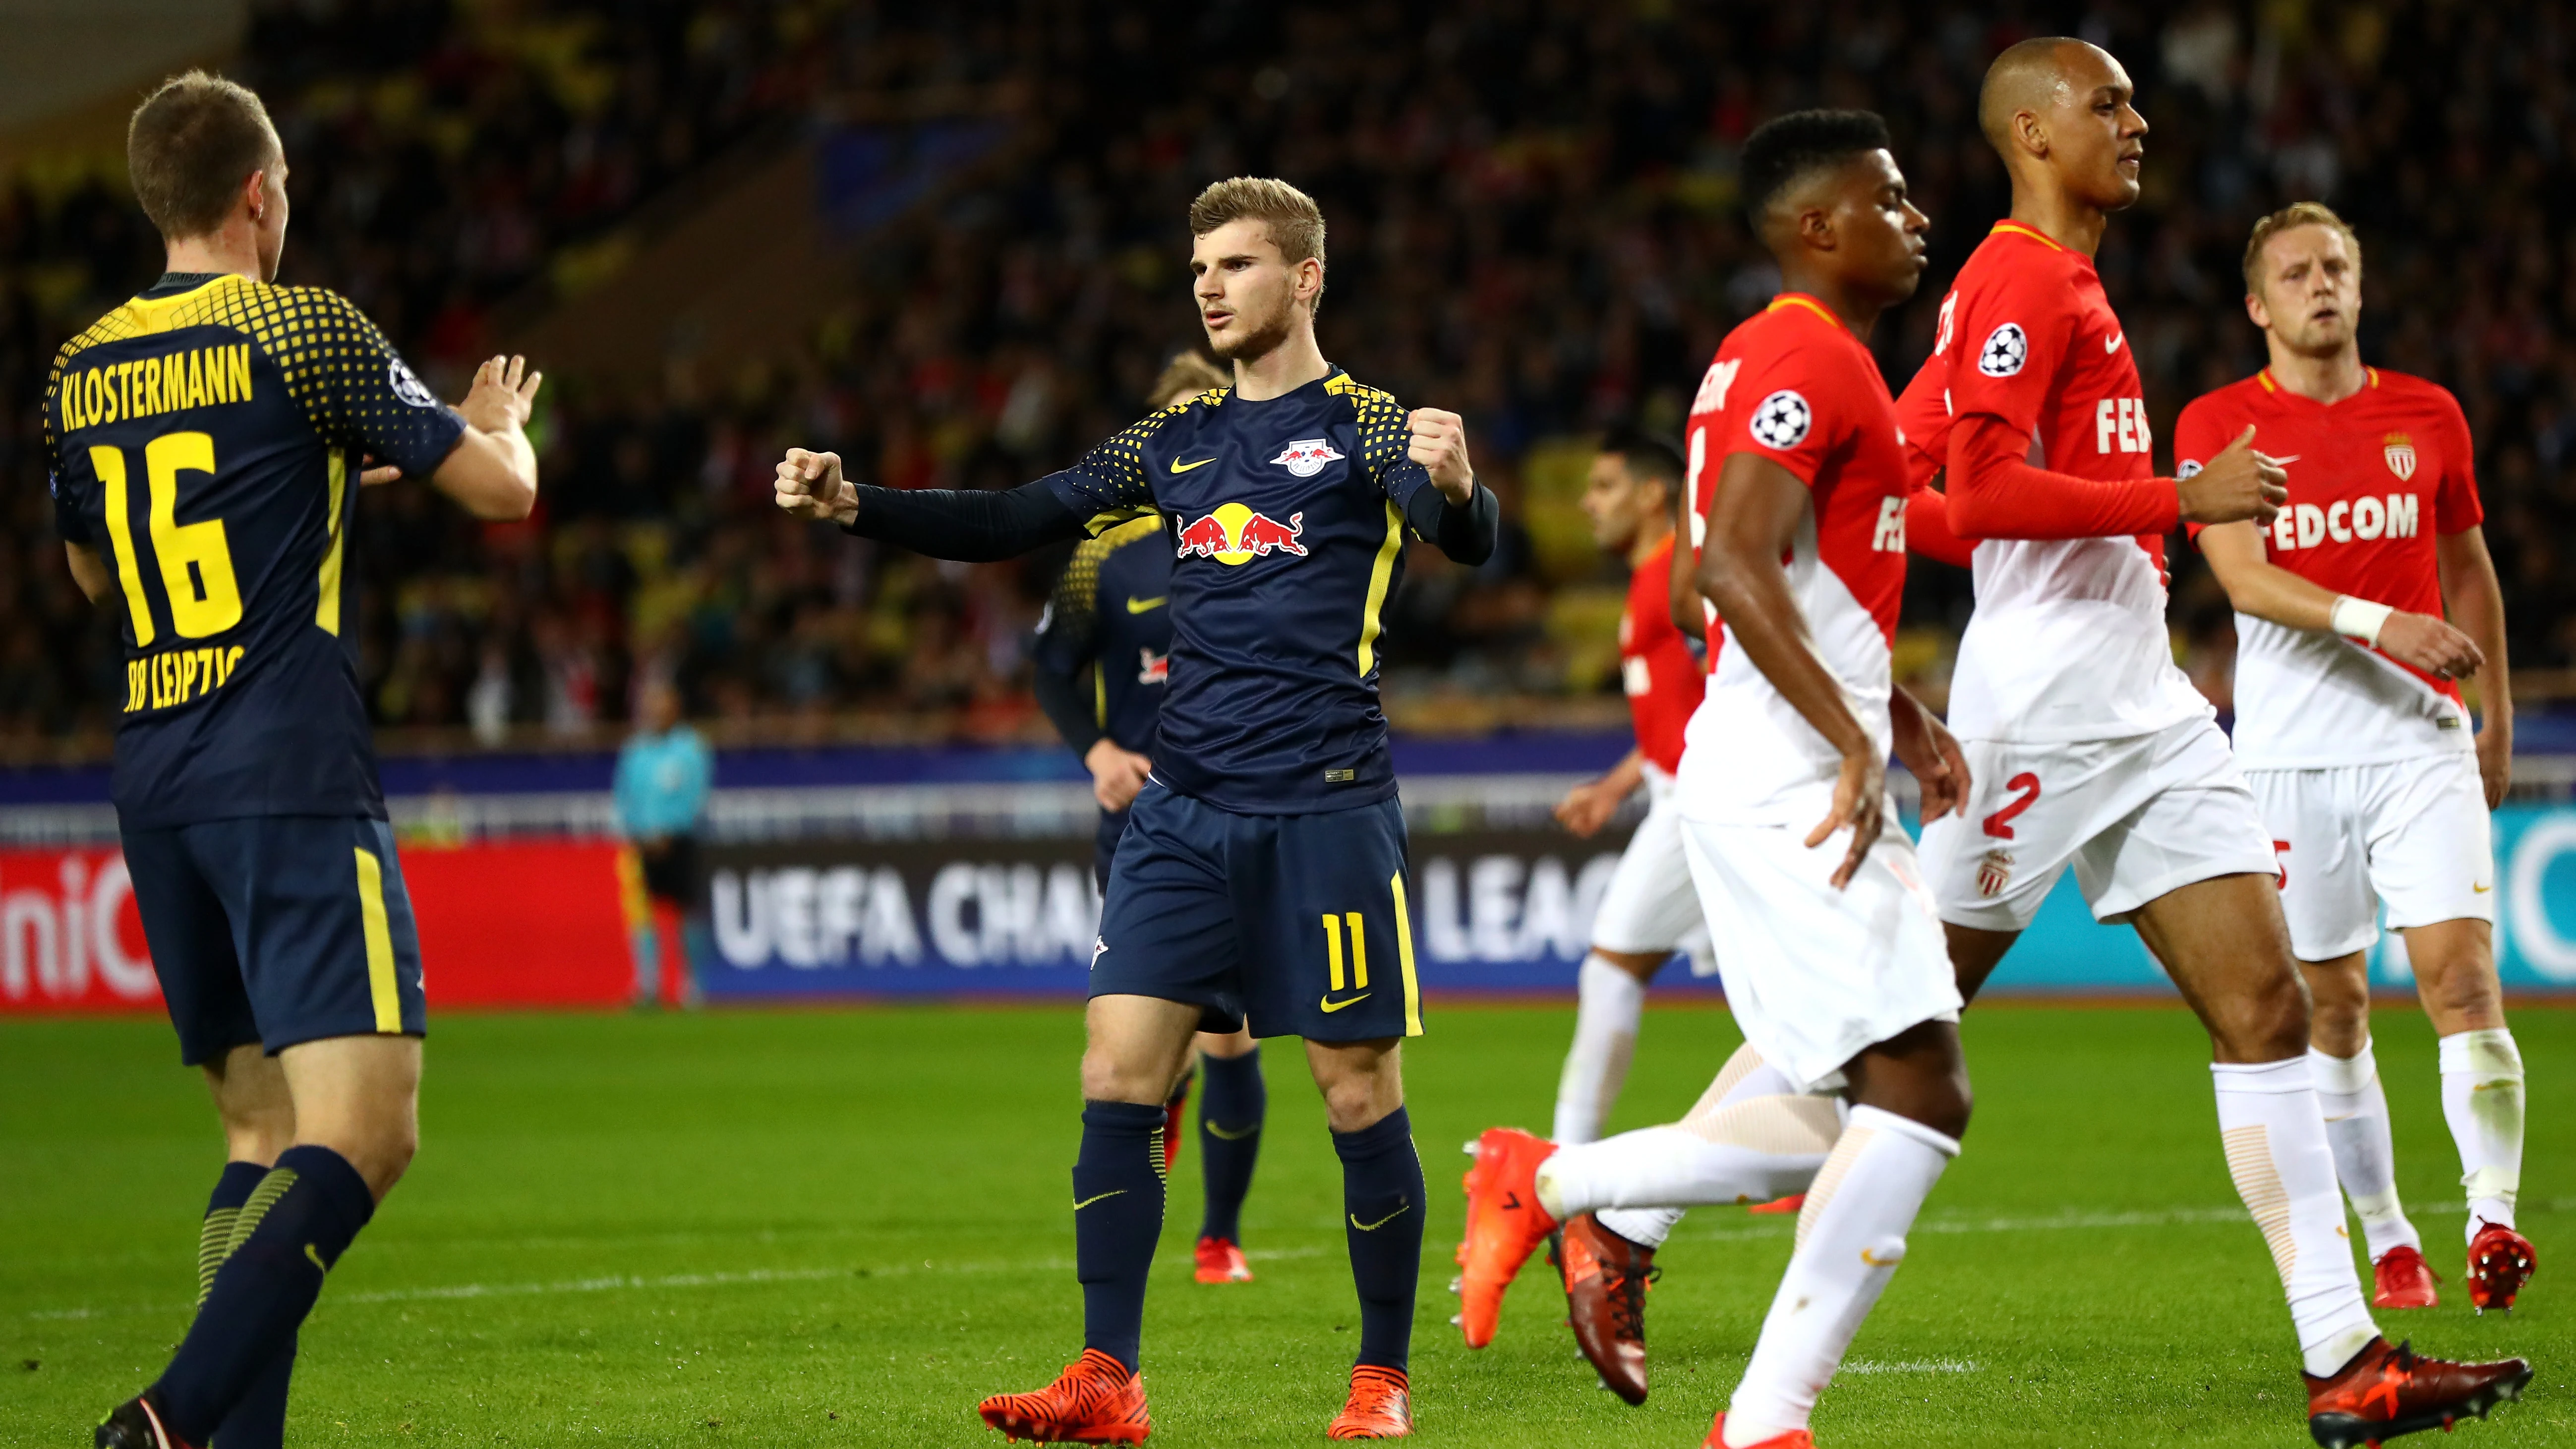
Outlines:
POLYGON ((1048 1387, 992 1395, 976 1413, 1010 1439, 1141 1444, 1154 1431, 1136 1356, 1144 1282, 1162 1235, 1162 1104, 1190 1058, 1198 1006, 1092 996, 1082 1029, 1082 1150, 1074 1158, 1082 1356, 1048 1387))

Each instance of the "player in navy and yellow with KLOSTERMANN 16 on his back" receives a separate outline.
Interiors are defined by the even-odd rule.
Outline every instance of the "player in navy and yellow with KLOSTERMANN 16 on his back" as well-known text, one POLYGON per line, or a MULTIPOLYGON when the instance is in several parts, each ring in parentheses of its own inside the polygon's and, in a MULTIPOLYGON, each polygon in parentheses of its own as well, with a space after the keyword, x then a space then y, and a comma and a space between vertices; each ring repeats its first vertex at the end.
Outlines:
POLYGON ((196 1323, 95 1441, 263 1449, 322 1277, 417 1140, 420 945, 340 631, 361 458, 526 517, 538 378, 495 358, 451 409, 345 299, 273 286, 286 154, 250 90, 165 82, 126 167, 167 273, 62 347, 46 461, 72 577, 124 625, 116 818, 229 1161, 196 1323))

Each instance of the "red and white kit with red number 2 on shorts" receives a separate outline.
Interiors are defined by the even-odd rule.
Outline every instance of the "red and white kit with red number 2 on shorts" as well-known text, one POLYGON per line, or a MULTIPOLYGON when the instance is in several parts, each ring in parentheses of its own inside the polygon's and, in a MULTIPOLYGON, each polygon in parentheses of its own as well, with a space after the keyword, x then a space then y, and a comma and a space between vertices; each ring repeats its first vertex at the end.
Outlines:
MULTIPOLYGON (((2154 479, 2146 389, 2092 257, 2014 221, 1960 268, 1899 420, 1927 458, 1950 458, 1953 432, 1973 430, 1960 440, 2004 438, 2030 468, 2154 479)), ((1953 468, 1947 512, 1963 533, 2027 522, 2050 538, 1976 546, 1976 615, 1950 682, 1950 731, 1976 788, 1965 818, 1924 826, 1942 919, 2020 932, 2069 865, 2097 919, 2195 880, 2269 872, 2254 795, 2166 638, 2172 489, 2105 489, 2125 499, 2105 507, 2038 474, 1989 486, 2012 492, 1963 497, 1953 468), (2081 535, 2087 507, 2105 535, 2081 535)))

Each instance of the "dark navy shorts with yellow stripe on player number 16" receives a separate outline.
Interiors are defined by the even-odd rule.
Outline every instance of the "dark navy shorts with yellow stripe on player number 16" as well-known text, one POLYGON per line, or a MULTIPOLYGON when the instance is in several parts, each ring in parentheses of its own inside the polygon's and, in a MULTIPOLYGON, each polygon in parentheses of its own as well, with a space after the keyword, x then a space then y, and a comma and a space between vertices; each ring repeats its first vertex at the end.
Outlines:
POLYGON ((124 842, 183 1063, 428 1032, 420 932, 384 821, 245 816, 124 842))

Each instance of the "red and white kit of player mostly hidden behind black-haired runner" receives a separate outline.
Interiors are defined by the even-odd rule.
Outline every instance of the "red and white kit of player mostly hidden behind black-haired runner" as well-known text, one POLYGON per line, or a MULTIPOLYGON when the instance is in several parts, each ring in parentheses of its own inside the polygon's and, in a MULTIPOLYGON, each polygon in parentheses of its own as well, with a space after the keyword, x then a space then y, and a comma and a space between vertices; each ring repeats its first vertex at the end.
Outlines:
POLYGON ((1620 682, 1636 746, 1646 757, 1646 818, 1628 836, 1618 870, 1592 916, 1592 945, 1615 952, 1690 952, 1690 973, 1708 975, 1708 927, 1682 860, 1682 816, 1672 777, 1682 767, 1682 731, 1700 705, 1700 656, 1672 625, 1672 540, 1628 574, 1628 607, 1618 618, 1620 682))

